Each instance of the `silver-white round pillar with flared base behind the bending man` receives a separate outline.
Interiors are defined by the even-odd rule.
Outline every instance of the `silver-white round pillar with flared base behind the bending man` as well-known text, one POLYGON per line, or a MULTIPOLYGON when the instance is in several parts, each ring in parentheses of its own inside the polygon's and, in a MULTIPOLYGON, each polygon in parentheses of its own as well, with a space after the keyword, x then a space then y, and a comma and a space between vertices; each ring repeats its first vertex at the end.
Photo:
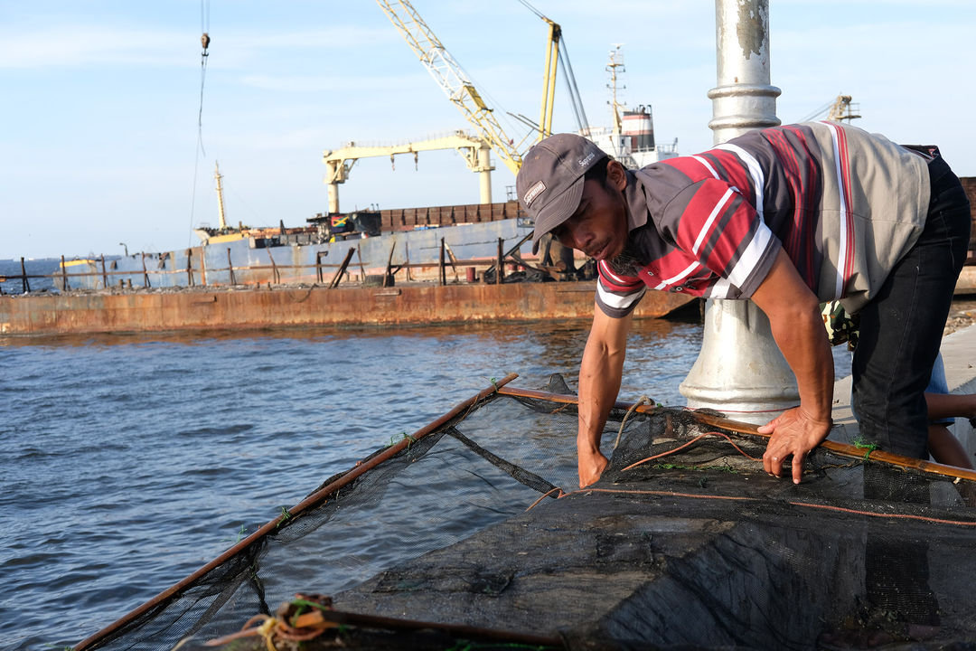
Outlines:
MULTIPOLYGON (((714 142, 779 125, 780 89, 769 85, 768 0, 715 0, 715 46, 717 86, 709 91, 714 142)), ((751 301, 707 302, 702 349, 679 389, 689 407, 753 424, 799 404, 769 320, 751 301)))

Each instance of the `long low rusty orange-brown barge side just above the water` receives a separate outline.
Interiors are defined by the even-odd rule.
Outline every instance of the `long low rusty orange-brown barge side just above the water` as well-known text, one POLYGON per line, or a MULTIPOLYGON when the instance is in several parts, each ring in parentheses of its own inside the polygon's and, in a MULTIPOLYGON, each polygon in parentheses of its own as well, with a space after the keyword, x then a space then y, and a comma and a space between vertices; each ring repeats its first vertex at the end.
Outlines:
MULTIPOLYGON (((637 317, 697 308, 655 292, 637 317)), ((196 288, 0 297, 0 336, 589 318, 592 282, 196 288)))

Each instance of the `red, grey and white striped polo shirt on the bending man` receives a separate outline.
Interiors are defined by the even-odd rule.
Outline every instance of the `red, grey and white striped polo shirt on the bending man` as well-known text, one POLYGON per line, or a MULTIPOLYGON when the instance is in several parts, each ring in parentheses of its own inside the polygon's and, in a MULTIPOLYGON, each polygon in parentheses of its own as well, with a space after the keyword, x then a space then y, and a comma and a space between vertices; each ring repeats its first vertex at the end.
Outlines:
POLYGON ((628 177, 627 245, 597 265, 596 304, 614 317, 647 288, 748 299, 781 247, 822 302, 856 312, 928 208, 922 155, 830 122, 752 131, 628 177))

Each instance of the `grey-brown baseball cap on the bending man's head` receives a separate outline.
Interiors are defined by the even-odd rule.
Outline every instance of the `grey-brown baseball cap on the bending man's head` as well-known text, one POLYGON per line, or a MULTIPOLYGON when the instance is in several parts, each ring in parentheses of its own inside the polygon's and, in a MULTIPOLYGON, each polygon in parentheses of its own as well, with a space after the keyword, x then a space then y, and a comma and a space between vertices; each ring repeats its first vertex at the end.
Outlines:
POLYGON ((515 190, 522 208, 535 220, 532 251, 539 238, 576 212, 584 175, 606 157, 598 146, 576 134, 555 134, 537 142, 522 158, 515 190))

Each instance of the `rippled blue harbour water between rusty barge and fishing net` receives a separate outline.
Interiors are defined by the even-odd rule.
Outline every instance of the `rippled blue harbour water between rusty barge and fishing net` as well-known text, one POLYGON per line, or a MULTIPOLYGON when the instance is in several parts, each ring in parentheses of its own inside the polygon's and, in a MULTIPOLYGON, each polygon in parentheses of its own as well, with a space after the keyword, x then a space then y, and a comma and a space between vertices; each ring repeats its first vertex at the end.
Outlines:
MULTIPOLYGON (((0 338, 0 649, 79 642, 509 372, 575 387, 588 329, 0 338)), ((621 399, 683 404, 700 345, 636 321, 621 399)))

